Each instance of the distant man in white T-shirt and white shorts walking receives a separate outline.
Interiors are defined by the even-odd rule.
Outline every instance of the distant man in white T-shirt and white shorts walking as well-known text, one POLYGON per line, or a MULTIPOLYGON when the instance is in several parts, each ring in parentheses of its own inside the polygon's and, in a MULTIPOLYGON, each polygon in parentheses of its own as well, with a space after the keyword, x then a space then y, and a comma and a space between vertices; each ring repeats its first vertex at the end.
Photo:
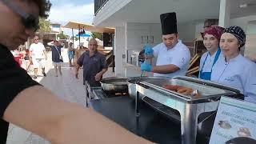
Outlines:
POLYGON ((46 48, 39 42, 38 36, 34 37, 34 43, 30 45, 30 57, 34 66, 34 79, 38 78, 38 67, 42 68, 42 74, 46 77, 46 48))

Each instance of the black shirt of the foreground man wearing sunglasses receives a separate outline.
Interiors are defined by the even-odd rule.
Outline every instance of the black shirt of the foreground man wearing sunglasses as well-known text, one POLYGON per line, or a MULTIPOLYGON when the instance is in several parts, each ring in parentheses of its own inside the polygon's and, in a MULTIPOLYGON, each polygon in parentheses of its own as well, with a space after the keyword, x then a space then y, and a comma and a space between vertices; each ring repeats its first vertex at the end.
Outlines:
POLYGON ((13 54, 6 46, 0 44, 0 143, 6 143, 9 123, 2 120, 3 114, 10 102, 30 86, 39 85, 26 70, 23 70, 14 60, 13 54))

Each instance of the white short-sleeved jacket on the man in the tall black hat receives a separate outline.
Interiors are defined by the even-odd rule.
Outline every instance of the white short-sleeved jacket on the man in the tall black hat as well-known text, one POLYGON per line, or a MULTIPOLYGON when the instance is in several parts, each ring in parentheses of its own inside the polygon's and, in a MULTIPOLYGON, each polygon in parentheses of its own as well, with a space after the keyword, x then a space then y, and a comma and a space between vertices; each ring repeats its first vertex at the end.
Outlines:
POLYGON ((155 77, 173 78, 174 76, 186 75, 186 71, 190 64, 190 50, 182 43, 182 41, 178 40, 176 46, 170 50, 167 50, 167 47, 163 42, 154 46, 153 50, 154 57, 157 58, 156 66, 173 64, 180 68, 180 70, 170 74, 154 73, 155 77))

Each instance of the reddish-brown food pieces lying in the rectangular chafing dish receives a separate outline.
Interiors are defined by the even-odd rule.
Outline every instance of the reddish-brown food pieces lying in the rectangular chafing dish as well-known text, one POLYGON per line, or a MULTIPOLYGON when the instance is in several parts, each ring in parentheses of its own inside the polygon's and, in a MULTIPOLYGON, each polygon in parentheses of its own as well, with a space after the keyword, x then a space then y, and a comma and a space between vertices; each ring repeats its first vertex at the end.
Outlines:
POLYGON ((178 85, 164 85, 162 86, 163 88, 167 90, 173 90, 179 94, 182 95, 190 95, 193 96, 194 98, 199 98, 201 97, 201 94, 198 93, 198 90, 193 90, 185 86, 178 86, 178 85))

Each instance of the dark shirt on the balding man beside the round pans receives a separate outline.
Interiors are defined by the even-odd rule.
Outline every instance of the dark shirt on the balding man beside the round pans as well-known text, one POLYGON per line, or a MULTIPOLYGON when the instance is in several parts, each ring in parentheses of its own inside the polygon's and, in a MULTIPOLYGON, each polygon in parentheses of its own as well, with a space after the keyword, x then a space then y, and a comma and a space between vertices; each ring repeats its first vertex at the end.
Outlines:
POLYGON ((95 81, 95 75, 107 68, 103 54, 96 52, 90 57, 89 51, 86 51, 78 59, 78 65, 83 66, 83 84, 87 81, 90 86, 100 86, 100 82, 95 81))

